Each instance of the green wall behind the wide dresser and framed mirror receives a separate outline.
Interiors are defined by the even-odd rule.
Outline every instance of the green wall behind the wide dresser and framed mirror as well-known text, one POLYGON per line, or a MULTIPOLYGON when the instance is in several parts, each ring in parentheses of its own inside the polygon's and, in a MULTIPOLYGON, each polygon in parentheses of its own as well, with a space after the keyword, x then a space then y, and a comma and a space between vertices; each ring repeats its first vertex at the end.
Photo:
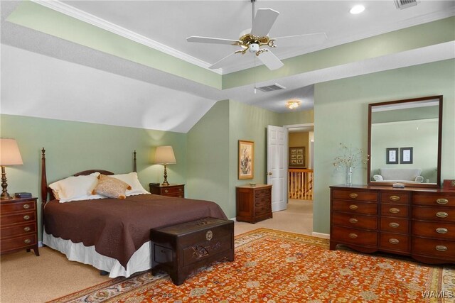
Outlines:
MULTIPOLYGON (((333 170, 338 144, 367 150, 368 104, 444 95, 441 180, 455 177, 455 60, 415 65, 370 75, 315 84, 314 88, 314 231, 328 233, 328 187, 343 184, 333 170)), ((355 170, 354 184, 366 184, 367 173, 355 170)))

